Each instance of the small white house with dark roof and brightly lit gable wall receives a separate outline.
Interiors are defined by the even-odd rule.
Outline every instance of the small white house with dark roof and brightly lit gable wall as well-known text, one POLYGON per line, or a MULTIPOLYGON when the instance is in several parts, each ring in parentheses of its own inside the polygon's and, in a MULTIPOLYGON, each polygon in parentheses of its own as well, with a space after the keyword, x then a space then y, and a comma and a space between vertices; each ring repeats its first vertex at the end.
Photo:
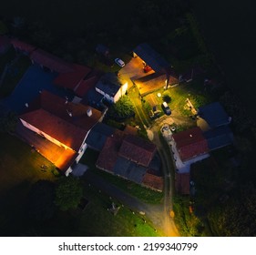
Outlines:
POLYGON ((103 95, 109 102, 116 103, 126 94, 128 82, 114 73, 102 76, 96 84, 96 91, 103 95))

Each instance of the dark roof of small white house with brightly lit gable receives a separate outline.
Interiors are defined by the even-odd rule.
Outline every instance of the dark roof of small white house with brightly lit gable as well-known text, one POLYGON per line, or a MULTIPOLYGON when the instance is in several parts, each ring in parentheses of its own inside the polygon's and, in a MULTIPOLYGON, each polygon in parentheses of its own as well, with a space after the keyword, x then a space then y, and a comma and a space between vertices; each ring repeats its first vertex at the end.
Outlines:
POLYGON ((107 73, 99 79, 96 87, 109 96, 114 97, 122 85, 121 80, 115 73, 107 73))

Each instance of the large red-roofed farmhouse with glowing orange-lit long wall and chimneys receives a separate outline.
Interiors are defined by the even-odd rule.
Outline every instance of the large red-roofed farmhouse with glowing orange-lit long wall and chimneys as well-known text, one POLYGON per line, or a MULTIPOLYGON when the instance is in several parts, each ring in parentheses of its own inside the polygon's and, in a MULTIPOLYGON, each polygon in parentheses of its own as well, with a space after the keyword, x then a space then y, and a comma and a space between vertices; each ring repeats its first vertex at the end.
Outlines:
MULTIPOLYGON (((73 155, 71 157, 73 161, 67 162, 64 158, 63 161, 57 159, 53 162, 57 168, 68 173, 72 171, 70 168, 72 163, 78 162, 82 157, 87 148, 85 142, 87 135, 90 129, 101 121, 101 117, 97 109, 67 102, 62 97, 42 91, 19 118, 24 127, 73 155)), ((34 144, 33 146, 36 147, 34 144)), ((38 150, 40 152, 39 148, 38 150)), ((60 153, 58 157, 63 158, 63 155, 60 153)), ((51 158, 52 156, 48 159, 51 158)))

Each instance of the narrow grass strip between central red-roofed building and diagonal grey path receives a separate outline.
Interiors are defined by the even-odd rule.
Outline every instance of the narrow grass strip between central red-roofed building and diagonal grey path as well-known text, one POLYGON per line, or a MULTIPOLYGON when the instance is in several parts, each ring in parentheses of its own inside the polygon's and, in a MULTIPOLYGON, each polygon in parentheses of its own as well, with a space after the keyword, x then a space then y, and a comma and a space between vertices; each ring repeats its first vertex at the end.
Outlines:
POLYGON ((141 199, 144 202, 151 203, 151 204, 158 204, 162 202, 163 194, 161 192, 144 188, 138 185, 137 183, 134 183, 127 179, 121 179, 108 172, 97 169, 95 167, 97 156, 98 156, 97 151, 87 148, 80 162, 87 165, 90 168, 90 170, 92 170, 95 174, 97 174, 101 178, 106 179, 109 183, 117 186, 119 189, 122 189, 128 192, 128 194, 138 199, 141 199))

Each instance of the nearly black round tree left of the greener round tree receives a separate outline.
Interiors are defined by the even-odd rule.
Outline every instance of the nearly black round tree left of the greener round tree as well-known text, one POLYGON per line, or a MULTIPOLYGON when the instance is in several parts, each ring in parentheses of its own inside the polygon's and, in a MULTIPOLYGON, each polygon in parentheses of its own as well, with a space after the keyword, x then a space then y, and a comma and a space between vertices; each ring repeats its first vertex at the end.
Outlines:
POLYGON ((55 186, 48 180, 38 180, 30 189, 27 199, 27 215, 30 219, 51 219, 56 211, 55 186))

